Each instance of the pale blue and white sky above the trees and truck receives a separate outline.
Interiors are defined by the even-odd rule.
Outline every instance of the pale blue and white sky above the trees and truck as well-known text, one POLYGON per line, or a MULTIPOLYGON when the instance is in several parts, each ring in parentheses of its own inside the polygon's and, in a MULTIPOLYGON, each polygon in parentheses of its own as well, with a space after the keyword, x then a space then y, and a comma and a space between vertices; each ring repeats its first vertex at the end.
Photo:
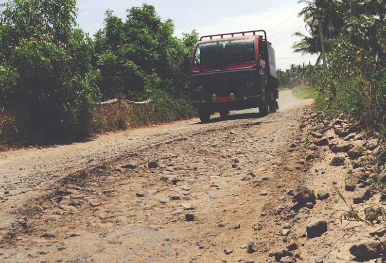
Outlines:
POLYGON ((125 19, 127 9, 143 2, 154 5, 163 20, 173 19, 178 37, 193 29, 200 35, 264 29, 275 49, 278 68, 316 62, 315 55, 302 56, 291 48, 299 40, 292 34, 306 33, 302 18, 297 16, 302 8, 298 0, 77 0, 77 22, 93 36, 103 27, 106 9, 125 19))

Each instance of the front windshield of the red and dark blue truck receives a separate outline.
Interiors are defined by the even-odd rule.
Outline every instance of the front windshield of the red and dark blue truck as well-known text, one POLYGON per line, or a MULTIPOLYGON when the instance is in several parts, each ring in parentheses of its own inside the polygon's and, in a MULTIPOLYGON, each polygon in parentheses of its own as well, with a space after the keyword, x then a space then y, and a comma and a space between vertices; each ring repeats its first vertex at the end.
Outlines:
POLYGON ((194 54, 193 66, 225 66, 255 62, 254 44, 253 38, 198 44, 194 54))

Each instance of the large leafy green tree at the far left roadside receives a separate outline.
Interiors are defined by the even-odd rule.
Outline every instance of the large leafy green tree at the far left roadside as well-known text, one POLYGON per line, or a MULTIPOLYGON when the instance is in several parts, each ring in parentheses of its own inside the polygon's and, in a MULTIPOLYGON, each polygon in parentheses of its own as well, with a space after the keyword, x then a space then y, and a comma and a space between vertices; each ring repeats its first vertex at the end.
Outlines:
POLYGON ((1 10, 0 97, 23 116, 24 136, 88 134, 100 92, 94 44, 75 29, 75 1, 13 0, 1 10))

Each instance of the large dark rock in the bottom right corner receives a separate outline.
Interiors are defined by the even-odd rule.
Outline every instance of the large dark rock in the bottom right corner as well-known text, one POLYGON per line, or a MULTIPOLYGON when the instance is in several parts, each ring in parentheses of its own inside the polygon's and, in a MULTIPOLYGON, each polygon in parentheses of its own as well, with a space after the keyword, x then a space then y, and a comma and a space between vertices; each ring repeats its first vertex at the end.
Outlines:
POLYGON ((378 241, 361 241, 350 247, 351 255, 361 259, 370 260, 381 257, 383 247, 378 241))

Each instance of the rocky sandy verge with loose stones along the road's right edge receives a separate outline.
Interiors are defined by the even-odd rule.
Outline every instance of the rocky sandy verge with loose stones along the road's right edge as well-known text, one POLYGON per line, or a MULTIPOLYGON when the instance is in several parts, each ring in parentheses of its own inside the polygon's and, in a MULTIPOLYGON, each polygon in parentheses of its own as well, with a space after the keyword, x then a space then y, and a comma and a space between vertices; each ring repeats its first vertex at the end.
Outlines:
POLYGON ((385 196, 372 183, 386 180, 380 134, 311 111, 299 128, 303 135, 283 161, 284 170, 295 164, 299 185, 269 213, 283 242, 269 252, 271 262, 380 262, 386 258, 385 196), (362 218, 369 224, 356 221, 362 218))

